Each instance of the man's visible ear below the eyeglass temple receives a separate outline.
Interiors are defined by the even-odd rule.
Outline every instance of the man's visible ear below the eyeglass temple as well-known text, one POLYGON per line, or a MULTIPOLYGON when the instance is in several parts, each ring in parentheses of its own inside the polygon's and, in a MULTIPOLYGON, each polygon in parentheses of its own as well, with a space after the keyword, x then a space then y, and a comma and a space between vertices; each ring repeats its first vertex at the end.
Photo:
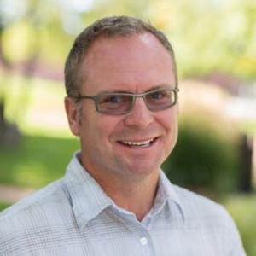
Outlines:
POLYGON ((79 112, 76 108, 75 102, 69 96, 65 97, 65 109, 67 113, 67 120, 70 131, 73 135, 80 135, 80 125, 79 125, 79 112))

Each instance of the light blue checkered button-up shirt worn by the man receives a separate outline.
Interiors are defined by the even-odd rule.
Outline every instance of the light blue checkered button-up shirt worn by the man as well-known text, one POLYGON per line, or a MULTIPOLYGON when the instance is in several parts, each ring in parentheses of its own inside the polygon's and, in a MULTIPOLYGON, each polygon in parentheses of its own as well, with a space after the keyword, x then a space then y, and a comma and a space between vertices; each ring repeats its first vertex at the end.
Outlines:
POLYGON ((0 255, 245 255, 223 207, 160 173, 154 207, 138 222, 117 207, 76 156, 66 176, 0 213, 0 255))

